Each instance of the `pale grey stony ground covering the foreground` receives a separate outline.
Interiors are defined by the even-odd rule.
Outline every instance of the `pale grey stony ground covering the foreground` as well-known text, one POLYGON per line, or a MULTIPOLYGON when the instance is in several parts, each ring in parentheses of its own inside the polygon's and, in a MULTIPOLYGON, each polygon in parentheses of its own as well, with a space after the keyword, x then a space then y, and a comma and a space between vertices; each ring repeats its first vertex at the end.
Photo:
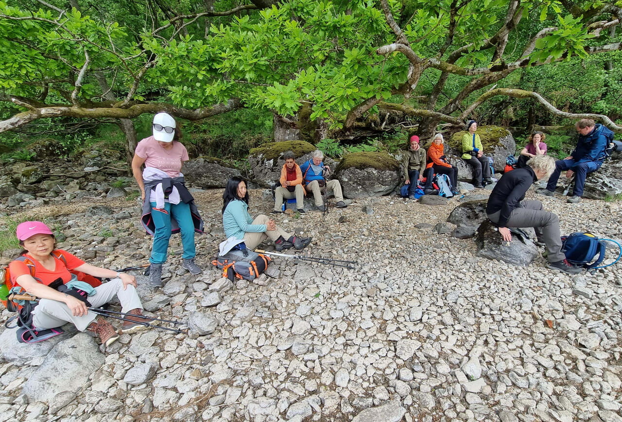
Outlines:
MULTIPOLYGON (((164 288, 137 275, 146 309, 190 333, 124 334, 102 353, 88 334, 17 345, 5 330, 0 420, 622 421, 622 263, 569 276, 541 257, 527 267, 480 258, 473 239, 440 233, 482 193, 279 215, 313 237, 302 255, 357 269, 276 258, 268 275, 232 284, 210 265, 224 240, 222 191, 197 192, 204 274, 182 270, 175 236, 164 288)), ((562 233, 622 233, 620 202, 537 199, 562 233)), ((59 246, 95 265, 147 263, 137 204, 86 201, 20 217, 47 217, 67 237, 59 246)), ((251 192, 253 215, 271 209, 251 192)))

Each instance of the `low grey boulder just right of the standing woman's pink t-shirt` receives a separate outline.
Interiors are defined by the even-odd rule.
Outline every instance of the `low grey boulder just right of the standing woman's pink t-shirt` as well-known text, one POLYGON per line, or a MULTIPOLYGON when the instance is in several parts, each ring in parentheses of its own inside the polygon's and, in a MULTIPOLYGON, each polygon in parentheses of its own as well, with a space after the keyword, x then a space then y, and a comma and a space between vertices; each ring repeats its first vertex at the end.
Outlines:
POLYGON ((204 189, 225 187, 227 180, 233 176, 242 176, 232 164, 219 158, 202 156, 186 161, 182 167, 185 179, 204 189))

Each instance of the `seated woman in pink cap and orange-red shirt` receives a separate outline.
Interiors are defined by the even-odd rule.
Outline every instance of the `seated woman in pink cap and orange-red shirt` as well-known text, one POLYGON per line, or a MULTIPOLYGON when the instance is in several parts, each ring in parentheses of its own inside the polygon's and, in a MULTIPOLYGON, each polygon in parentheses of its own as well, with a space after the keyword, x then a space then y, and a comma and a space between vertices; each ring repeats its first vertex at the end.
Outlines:
POLYGON ((119 334, 103 317, 89 311, 84 299, 88 299, 91 307, 100 307, 114 296, 121 302, 121 311, 133 315, 123 322, 123 332, 137 331, 145 327, 139 322, 149 322, 141 318, 142 304, 136 293, 134 276, 87 264, 71 253, 57 249, 52 230, 42 222, 21 223, 16 234, 24 250, 9 264, 11 282, 40 298, 32 311, 32 325, 39 331, 72 322, 80 331, 95 332, 101 343, 108 346, 119 338, 119 334), (76 281, 70 271, 111 280, 93 288, 95 293, 91 291, 87 298, 83 298, 76 293, 77 290, 66 286, 76 281))

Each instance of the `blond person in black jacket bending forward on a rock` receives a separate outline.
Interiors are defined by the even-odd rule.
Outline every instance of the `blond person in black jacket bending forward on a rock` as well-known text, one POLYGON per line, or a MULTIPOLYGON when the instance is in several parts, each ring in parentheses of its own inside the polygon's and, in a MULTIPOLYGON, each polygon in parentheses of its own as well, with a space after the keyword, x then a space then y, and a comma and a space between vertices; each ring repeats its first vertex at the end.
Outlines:
POLYGON ((524 200, 532 183, 549 177, 555 170, 555 159, 551 156, 536 156, 527 161, 527 166, 507 172, 494 186, 488 197, 486 214, 499 227, 503 240, 512 240, 508 227, 533 227, 537 240, 546 245, 547 267, 563 273, 577 274, 582 268, 573 266, 562 252, 562 238, 559 233, 559 218, 545 211, 542 202, 524 200))

